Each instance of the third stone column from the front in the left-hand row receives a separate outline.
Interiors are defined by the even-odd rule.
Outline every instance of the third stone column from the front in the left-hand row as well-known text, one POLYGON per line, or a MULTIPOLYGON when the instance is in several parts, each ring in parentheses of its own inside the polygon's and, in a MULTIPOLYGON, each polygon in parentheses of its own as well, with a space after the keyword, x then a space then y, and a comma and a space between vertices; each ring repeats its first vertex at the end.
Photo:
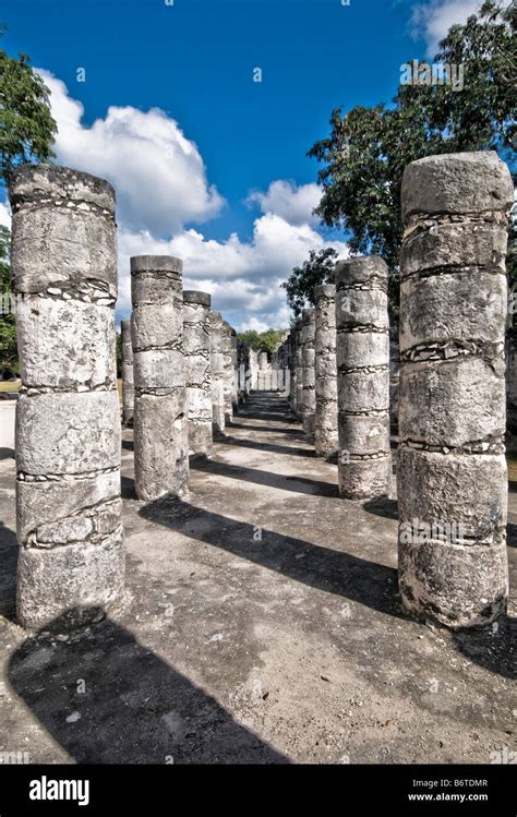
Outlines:
POLYGON ((208 455, 212 449, 211 297, 183 291, 183 345, 189 450, 208 455))

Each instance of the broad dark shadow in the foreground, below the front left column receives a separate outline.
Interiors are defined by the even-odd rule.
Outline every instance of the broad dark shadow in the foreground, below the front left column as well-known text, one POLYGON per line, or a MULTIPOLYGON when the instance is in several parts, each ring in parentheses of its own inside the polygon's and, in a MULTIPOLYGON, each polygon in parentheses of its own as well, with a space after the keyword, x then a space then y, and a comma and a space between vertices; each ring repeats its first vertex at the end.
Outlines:
POLYGON ((119 624, 59 640, 61 624, 16 649, 9 681, 77 762, 289 762, 119 624))

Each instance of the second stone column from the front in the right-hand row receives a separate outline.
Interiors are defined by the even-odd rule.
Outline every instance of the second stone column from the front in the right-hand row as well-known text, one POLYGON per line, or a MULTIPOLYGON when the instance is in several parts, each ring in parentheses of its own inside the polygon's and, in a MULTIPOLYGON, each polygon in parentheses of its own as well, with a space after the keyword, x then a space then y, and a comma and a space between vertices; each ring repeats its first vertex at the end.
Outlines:
POLYGON ((388 269, 375 255, 336 265, 339 492, 389 493, 388 269))

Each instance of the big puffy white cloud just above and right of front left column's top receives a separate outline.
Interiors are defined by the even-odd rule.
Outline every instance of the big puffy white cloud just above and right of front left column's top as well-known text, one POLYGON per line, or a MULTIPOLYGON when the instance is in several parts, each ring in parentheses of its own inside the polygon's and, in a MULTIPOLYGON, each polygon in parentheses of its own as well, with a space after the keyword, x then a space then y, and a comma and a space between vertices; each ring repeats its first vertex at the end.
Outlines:
POLYGON ((117 190, 121 223, 170 236, 220 212, 225 201, 208 185, 196 145, 163 110, 110 107, 105 119, 87 127, 83 105, 64 83, 48 71, 39 73, 51 92, 59 164, 108 179, 117 190))

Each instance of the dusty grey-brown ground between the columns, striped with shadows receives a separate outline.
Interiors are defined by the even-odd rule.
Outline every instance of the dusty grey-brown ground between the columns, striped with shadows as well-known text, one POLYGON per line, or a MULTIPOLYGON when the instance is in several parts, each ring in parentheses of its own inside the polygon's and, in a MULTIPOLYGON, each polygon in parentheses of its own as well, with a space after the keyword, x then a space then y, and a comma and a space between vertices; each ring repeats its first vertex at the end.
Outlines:
POLYGON ((485 630, 413 620, 397 592, 396 501, 339 497, 337 466, 277 396, 251 396, 181 500, 136 500, 132 434, 125 602, 67 636, 13 623, 15 467, 0 460, 2 752, 353 765, 486 764, 516 749, 515 596, 485 630))

